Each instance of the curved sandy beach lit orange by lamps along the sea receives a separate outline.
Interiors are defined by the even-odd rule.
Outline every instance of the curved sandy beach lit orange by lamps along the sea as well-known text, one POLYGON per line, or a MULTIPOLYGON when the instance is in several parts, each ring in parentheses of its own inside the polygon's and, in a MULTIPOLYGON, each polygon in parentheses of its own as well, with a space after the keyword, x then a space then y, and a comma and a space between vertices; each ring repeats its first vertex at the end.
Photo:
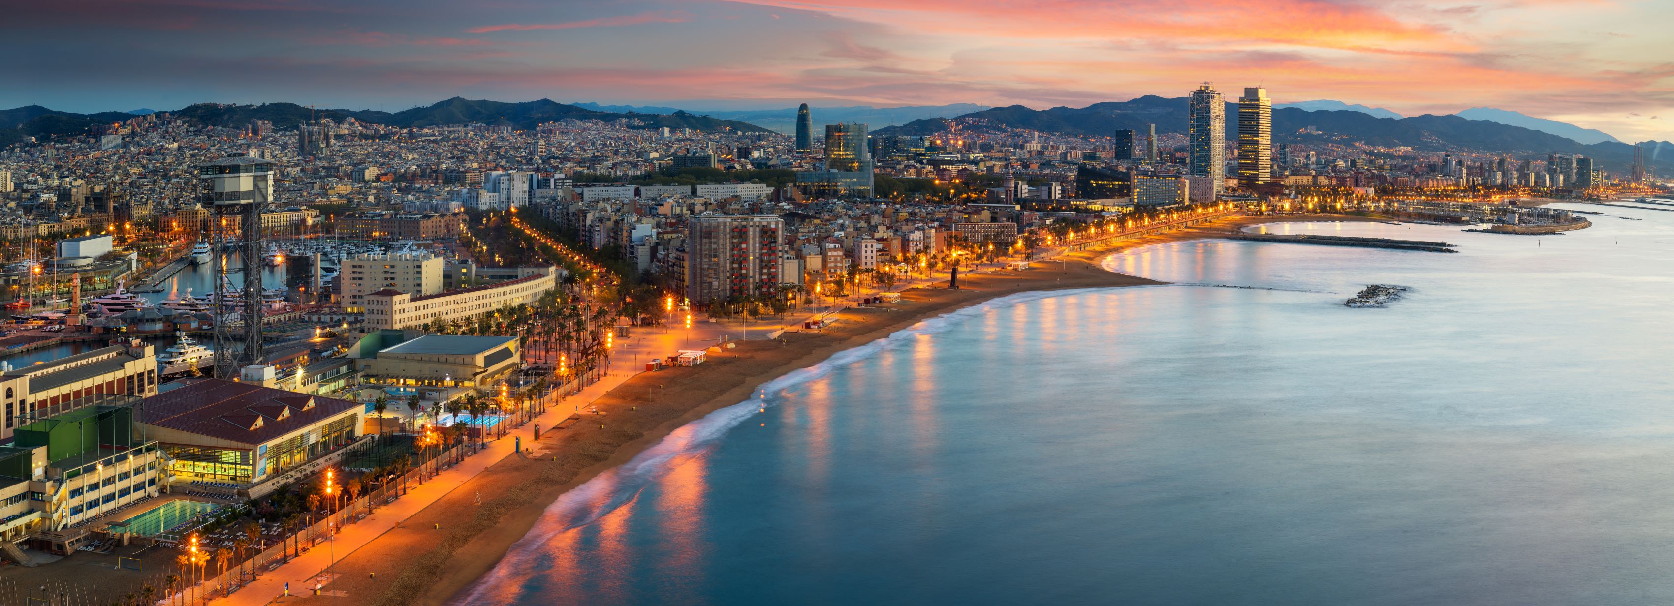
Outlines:
MULTIPOLYGON (((549 430, 539 442, 529 440, 529 432, 521 430, 524 445, 539 454, 539 459, 509 455, 492 462, 487 470, 413 514, 400 527, 347 554, 341 561, 343 569, 368 574, 340 576, 328 588, 335 589, 331 594, 358 598, 357 603, 449 604, 497 566, 559 496, 629 462, 676 429, 750 398, 762 383, 922 320, 1006 295, 1163 285, 1103 270, 1101 259, 1123 249, 1217 238, 1220 233, 1261 223, 1302 221, 1381 223, 1381 219, 1331 214, 1220 219, 1199 228, 1063 253, 1035 261, 1035 266, 1024 271, 961 275, 963 288, 958 291, 907 290, 902 303, 840 311, 840 321, 822 333, 785 333, 783 345, 743 342, 738 348, 713 355, 711 362, 696 368, 638 373, 583 405, 598 407, 604 417, 584 417, 567 430, 549 430), (670 383, 678 383, 680 388, 666 390, 665 385, 670 383), (596 427, 596 422, 603 422, 603 427, 596 427), (434 524, 440 524, 440 531, 434 524), (378 576, 385 581, 377 581, 378 576)), ((944 286, 946 281, 937 285, 944 286)), ((288 601, 295 599, 296 596, 288 601)), ((303 601, 315 599, 325 598, 303 598, 303 601)))

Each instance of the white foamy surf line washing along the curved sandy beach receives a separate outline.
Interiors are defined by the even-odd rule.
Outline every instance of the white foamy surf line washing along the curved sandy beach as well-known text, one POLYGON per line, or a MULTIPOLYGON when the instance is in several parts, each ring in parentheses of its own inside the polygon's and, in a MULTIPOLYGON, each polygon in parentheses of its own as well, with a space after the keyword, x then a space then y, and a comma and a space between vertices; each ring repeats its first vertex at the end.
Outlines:
MULTIPOLYGON (((787 395, 790 395, 790 390, 800 385, 824 378, 837 368, 876 357, 886 350, 906 347, 917 336, 942 333, 956 326, 959 321, 983 313, 1045 298, 1108 290, 1110 288, 1068 288, 996 296, 978 305, 921 320, 912 326, 891 333, 889 336, 837 352, 820 363, 792 370, 778 378, 762 383, 755 388, 755 398, 715 410, 703 419, 681 425, 621 467, 604 470, 588 482, 583 482, 581 485, 559 496, 557 501, 547 506, 546 512, 541 514, 541 519, 536 521, 534 527, 531 527, 522 539, 512 544, 512 547, 506 552, 506 557, 489 569, 482 579, 477 579, 477 583, 474 583, 470 589, 462 594, 462 598, 450 601, 450 604, 464 606, 501 603, 499 596, 514 593, 516 588, 521 588, 521 579, 529 579, 551 569, 541 562, 541 556, 544 554, 542 546, 547 541, 571 529, 591 524, 616 507, 633 502, 633 499, 638 497, 646 485, 651 485, 655 480, 666 475, 683 460, 700 457, 715 449, 728 430, 738 427, 747 419, 768 407, 777 407, 787 395)), ((514 599, 506 599, 504 603, 512 601, 514 599)))

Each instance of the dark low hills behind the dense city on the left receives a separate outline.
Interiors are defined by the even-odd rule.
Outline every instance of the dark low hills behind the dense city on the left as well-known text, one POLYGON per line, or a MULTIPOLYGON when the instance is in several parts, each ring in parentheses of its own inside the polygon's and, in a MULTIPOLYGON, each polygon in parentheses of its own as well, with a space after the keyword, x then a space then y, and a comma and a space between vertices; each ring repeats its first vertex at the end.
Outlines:
MULTIPOLYGON (((733 132, 770 132, 755 124, 727 121, 708 116, 695 116, 681 110, 670 114, 644 112, 601 112, 576 105, 559 104, 551 99, 526 102, 470 100, 462 97, 447 99, 432 105, 412 107, 400 112, 350 110, 350 109, 308 109, 298 104, 261 104, 261 105, 228 105, 228 104, 194 104, 171 112, 204 126, 243 127, 249 121, 273 121, 276 129, 295 127, 311 117, 343 121, 353 117, 360 122, 385 124, 395 127, 427 127, 452 124, 489 124, 511 126, 514 129, 534 129, 541 122, 564 119, 638 121, 636 129, 695 129, 733 132)), ((134 117, 131 112, 97 112, 74 114, 59 112, 40 105, 25 105, 0 110, 0 147, 32 137, 57 137, 84 134, 94 124, 121 122, 134 117)))

